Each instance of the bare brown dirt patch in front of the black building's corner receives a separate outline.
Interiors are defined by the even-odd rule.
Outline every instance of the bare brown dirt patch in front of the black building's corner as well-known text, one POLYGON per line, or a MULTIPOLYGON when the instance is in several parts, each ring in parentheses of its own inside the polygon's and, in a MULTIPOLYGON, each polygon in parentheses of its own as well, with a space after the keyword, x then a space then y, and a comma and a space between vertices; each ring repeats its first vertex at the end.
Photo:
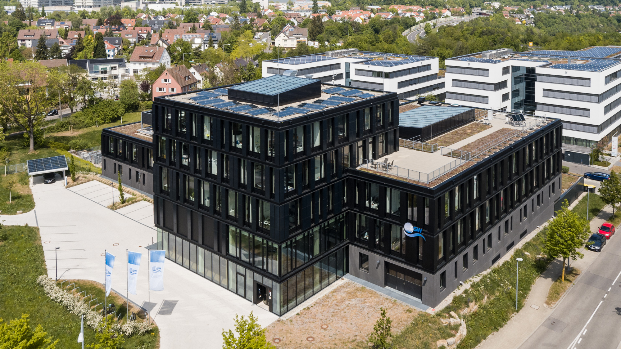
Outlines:
POLYGON ((392 319, 392 333, 406 328, 419 313, 413 307, 346 281, 289 319, 268 325, 266 338, 277 348, 287 349, 368 348, 366 340, 379 319, 380 307, 392 319), (274 343, 274 338, 280 342, 274 343))

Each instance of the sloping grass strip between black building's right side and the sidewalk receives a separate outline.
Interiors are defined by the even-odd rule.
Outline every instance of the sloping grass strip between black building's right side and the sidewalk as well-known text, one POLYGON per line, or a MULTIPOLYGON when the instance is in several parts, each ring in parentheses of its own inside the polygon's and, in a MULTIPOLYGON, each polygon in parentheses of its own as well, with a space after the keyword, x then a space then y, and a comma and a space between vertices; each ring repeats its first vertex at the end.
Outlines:
POLYGON ((547 260, 536 258, 542 252, 545 229, 532 240, 517 248, 509 260, 471 284, 460 296, 453 298, 451 304, 440 313, 451 310, 458 312, 471 302, 479 304, 476 312, 464 315, 468 334, 457 345, 458 349, 474 348, 492 332, 504 326, 515 312, 515 258, 524 258, 520 262, 519 309, 524 307, 530 288, 538 276, 548 266, 547 260), (528 252, 529 254, 525 254, 528 252))

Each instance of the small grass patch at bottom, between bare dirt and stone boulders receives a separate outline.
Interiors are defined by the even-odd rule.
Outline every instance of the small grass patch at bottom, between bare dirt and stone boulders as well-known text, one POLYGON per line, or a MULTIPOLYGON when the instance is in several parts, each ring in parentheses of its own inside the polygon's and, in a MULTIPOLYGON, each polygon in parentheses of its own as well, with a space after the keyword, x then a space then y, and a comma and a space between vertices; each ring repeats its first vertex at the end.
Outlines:
POLYGON ((440 317, 421 312, 392 337, 391 344, 393 348, 436 348, 437 340, 455 337, 459 329, 460 325, 442 325, 440 317))

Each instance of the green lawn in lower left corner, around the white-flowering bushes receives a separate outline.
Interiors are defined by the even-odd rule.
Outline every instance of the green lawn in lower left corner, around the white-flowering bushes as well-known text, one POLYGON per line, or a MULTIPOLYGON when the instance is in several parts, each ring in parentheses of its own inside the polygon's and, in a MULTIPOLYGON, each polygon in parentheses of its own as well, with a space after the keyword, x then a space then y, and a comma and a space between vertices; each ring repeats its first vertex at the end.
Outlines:
MULTIPOLYGON (((39 275, 47 275, 43 247, 36 227, 17 225, 0 229, 0 318, 17 319, 30 315, 30 326, 42 325, 47 336, 57 338, 57 348, 73 348, 80 331, 80 319, 65 307, 50 301, 42 286, 37 284, 39 275)), ((157 348, 158 330, 125 338, 123 348, 157 348)), ((93 343, 94 331, 84 326, 86 344, 93 343)), ((77 348, 77 347, 76 347, 77 348)))

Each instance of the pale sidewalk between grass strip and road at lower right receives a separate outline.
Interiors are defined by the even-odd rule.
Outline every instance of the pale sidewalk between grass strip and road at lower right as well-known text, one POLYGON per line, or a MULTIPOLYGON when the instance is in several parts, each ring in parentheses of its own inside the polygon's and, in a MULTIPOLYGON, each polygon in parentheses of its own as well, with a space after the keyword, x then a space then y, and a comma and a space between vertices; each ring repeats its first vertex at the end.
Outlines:
MULTIPOLYGON (((591 220, 591 232, 596 232, 597 228, 600 227, 610 215, 612 215, 612 206, 605 206, 597 217, 591 220)), ((571 261, 570 265, 584 273, 597 257, 597 253, 587 251, 585 248, 582 248, 580 252, 584 254, 584 258, 571 261)), ((553 261, 540 278, 535 281, 535 284, 530 289, 528 298, 524 302, 524 307, 520 312, 515 314, 498 332, 489 335, 477 348, 519 348, 554 311, 556 306, 552 308, 547 307, 545 305, 545 300, 548 297, 550 286, 561 276, 562 269, 563 260, 557 259, 553 261)), ((568 289, 568 292, 569 290, 571 290, 571 288, 568 289)), ((562 297, 559 302, 561 301, 563 301, 562 297)), ((558 304, 558 302, 556 304, 558 304)))

